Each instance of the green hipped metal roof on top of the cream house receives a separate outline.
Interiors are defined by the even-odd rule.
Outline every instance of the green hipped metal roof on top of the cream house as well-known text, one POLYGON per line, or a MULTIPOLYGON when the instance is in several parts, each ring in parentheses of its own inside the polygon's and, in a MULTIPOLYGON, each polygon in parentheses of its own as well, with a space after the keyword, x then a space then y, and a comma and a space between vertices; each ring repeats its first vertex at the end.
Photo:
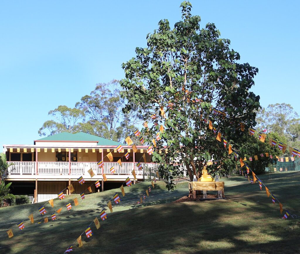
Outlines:
MULTIPOLYGON (((98 146, 117 146, 120 143, 110 139, 101 138, 85 132, 77 132, 72 134, 70 132, 61 132, 52 136, 38 139, 37 141, 98 141, 98 146)), ((125 145, 125 144, 122 144, 125 145)))

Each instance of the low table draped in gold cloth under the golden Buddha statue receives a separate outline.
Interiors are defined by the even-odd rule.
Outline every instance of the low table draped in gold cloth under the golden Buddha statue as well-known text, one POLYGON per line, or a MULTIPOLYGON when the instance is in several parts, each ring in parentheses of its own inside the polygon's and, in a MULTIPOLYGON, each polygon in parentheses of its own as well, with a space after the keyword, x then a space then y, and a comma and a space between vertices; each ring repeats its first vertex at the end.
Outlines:
POLYGON ((224 197, 224 182, 189 182, 189 198, 196 199, 196 191, 203 192, 203 198, 206 198, 206 191, 217 191, 218 198, 224 197))

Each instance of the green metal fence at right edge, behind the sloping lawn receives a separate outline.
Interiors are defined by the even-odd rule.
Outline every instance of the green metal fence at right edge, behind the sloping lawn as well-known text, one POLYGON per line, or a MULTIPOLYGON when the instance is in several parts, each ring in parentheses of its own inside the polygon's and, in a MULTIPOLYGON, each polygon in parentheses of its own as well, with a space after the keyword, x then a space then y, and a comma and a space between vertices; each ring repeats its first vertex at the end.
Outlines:
POLYGON ((283 162, 277 161, 277 159, 273 159, 271 165, 265 168, 266 172, 287 172, 287 171, 300 171, 300 158, 294 157, 295 161, 291 161, 290 154, 283 154, 279 156, 283 158, 283 162), (288 162, 286 162, 285 158, 288 157, 288 162))

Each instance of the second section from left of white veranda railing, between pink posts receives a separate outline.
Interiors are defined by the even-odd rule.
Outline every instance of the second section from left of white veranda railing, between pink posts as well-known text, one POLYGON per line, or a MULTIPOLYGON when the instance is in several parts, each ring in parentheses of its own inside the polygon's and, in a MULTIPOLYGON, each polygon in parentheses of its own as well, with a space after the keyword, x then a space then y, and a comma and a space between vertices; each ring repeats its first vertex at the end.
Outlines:
POLYGON ((69 162, 38 162, 38 174, 68 175, 69 162))

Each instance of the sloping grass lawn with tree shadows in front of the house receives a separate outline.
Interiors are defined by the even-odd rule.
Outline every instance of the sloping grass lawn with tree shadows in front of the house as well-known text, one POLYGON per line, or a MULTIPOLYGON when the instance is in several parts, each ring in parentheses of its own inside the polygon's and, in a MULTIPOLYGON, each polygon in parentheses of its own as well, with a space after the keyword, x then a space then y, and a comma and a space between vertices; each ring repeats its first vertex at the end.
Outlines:
MULTIPOLYGON (((300 215, 300 172, 259 176, 291 214, 300 215)), ((0 237, 0 253, 64 253, 67 247, 88 227, 118 192, 122 201, 113 203, 113 213, 100 221, 94 235, 82 235, 83 247, 73 244, 74 253, 300 253, 300 219, 281 219, 278 203, 272 204, 258 183, 244 177, 225 181, 228 200, 172 203, 188 194, 187 183, 178 183, 168 192, 157 182, 149 198, 136 204, 149 183, 85 195, 71 212, 63 209, 57 220, 31 224, 27 216, 34 212, 35 222, 41 218, 41 204, 19 205, 0 209, 0 235, 13 228, 14 237, 0 237), (26 219, 25 229, 16 223, 26 219)), ((75 198, 55 199, 54 208, 45 206, 50 215, 75 198), (62 204, 62 205, 60 205, 62 204)), ((43 204, 43 203, 42 203, 43 204)), ((42 218, 44 218, 42 216, 42 218)), ((100 220, 100 217, 99 217, 100 220)))

